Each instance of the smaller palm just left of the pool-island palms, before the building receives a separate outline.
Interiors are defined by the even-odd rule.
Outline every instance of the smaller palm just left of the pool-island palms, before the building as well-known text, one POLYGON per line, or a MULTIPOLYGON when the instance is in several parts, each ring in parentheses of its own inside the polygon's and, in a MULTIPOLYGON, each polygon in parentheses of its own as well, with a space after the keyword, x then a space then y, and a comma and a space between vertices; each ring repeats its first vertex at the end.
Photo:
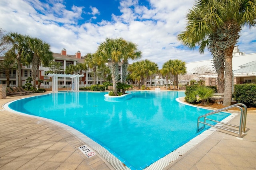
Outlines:
POLYGON ((100 64, 104 63, 102 58, 99 57, 97 53, 86 55, 84 62, 88 65, 89 68, 92 68, 93 72, 93 85, 96 84, 96 69, 100 64))

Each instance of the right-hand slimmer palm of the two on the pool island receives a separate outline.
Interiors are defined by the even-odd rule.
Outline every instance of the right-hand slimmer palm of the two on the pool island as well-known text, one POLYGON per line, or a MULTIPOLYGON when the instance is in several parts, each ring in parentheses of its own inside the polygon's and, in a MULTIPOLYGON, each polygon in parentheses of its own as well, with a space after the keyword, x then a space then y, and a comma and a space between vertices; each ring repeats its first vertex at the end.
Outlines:
POLYGON ((126 83, 126 78, 128 75, 128 60, 137 60, 142 57, 142 52, 138 50, 138 45, 128 41, 124 43, 124 54, 123 54, 123 64, 122 64, 122 83, 126 83))

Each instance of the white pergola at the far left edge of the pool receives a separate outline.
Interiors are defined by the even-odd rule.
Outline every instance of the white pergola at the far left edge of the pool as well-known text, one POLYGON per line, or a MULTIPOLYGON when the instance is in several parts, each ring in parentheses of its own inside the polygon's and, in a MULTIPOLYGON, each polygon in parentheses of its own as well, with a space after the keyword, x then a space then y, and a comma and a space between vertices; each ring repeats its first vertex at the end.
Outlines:
POLYGON ((52 91, 58 92, 58 77, 68 77, 71 78, 71 89, 74 91, 79 91, 79 78, 84 75, 79 74, 48 74, 49 77, 52 77, 52 91))

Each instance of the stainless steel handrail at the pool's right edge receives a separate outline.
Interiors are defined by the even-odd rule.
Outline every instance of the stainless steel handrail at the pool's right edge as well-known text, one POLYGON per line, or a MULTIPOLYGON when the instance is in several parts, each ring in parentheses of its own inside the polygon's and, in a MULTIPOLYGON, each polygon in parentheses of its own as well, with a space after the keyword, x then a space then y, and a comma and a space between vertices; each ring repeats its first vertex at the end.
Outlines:
POLYGON ((232 106, 228 106, 228 107, 225 107, 225 108, 222 108, 222 109, 218 109, 216 111, 212 111, 210 113, 207 113, 205 115, 202 115, 202 116, 199 116, 198 119, 197 119, 197 127, 196 127, 196 133, 198 133, 199 131, 201 131, 202 129, 205 128, 205 125, 209 125, 209 126, 212 126, 212 127, 216 127, 218 129, 222 129, 224 131, 229 131, 229 132, 232 132, 232 133, 236 133, 238 134, 238 139, 242 139, 242 132, 244 134, 245 133, 245 126, 246 126, 246 115, 247 115, 247 107, 246 105, 244 104, 241 104, 241 103, 238 103, 238 104, 234 104, 232 106), (242 107, 244 107, 244 109, 242 107), (216 120, 213 120, 213 119, 209 119, 207 118, 206 116, 209 116, 209 115, 213 115, 213 114, 216 114, 216 113, 219 113, 221 111, 225 111, 227 109, 230 109, 230 108, 233 108, 233 107, 237 107, 240 109, 241 111, 241 115, 240 115, 240 125, 239 126, 236 126, 236 125, 232 125, 232 124, 229 124, 229 123, 224 123, 224 122, 220 122, 220 121, 216 121, 216 120), (201 118, 204 118, 204 121, 200 121, 201 118), (228 126, 231 126, 231 127, 235 127, 235 128, 239 128, 238 131, 234 131, 234 129, 231 129, 231 128, 225 128, 225 127, 220 127, 220 126, 216 126, 216 125, 211 125, 209 123, 206 123, 206 120, 210 120, 210 121, 213 121, 213 122, 216 122, 216 123, 219 123, 219 124, 223 124, 223 125, 228 125, 228 126), (199 123, 202 123, 204 124, 202 127, 199 128, 199 123))

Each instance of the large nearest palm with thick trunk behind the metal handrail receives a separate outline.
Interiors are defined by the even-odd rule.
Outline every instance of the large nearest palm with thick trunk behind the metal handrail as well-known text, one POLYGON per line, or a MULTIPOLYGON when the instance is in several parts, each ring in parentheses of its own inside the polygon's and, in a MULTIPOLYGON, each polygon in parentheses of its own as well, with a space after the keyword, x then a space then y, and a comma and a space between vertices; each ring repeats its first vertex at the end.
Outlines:
POLYGON ((187 15, 188 25, 186 31, 183 32, 185 36, 181 36, 180 40, 188 47, 202 45, 203 48, 214 43, 211 40, 216 40, 217 45, 213 45, 211 49, 218 50, 216 54, 223 53, 220 61, 223 60, 225 63, 224 106, 231 105, 234 46, 238 42, 242 27, 245 25, 255 26, 255 18, 255 0, 199 0, 195 2, 194 7, 187 15), (191 16, 194 18, 189 18, 191 16), (186 36, 187 38, 185 38, 186 36), (207 41, 208 37, 215 39, 207 41), (209 42, 209 44, 205 42, 209 42))

